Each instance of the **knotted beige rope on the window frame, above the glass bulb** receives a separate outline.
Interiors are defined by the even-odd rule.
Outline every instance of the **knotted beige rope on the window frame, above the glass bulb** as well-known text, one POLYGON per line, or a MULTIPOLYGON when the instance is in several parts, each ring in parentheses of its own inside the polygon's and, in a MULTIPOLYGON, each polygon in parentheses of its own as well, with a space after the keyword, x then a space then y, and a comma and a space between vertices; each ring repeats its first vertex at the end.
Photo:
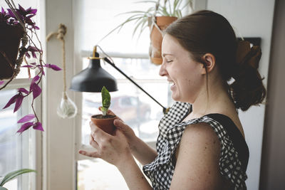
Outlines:
POLYGON ((59 28, 57 32, 49 33, 46 37, 46 41, 49 41, 51 37, 56 36, 59 41, 62 42, 62 52, 63 52, 63 98, 67 100, 66 95, 66 41, 64 40, 64 37, 66 36, 67 28, 66 26, 61 23, 59 24, 59 28))

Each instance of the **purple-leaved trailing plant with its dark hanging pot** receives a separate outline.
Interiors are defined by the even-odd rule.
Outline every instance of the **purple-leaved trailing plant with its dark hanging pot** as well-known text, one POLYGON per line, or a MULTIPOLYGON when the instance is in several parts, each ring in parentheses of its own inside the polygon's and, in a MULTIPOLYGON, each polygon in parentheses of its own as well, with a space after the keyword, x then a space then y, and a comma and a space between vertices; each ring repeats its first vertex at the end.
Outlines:
POLYGON ((33 108, 33 102, 41 94, 39 83, 44 73, 43 68, 61 70, 56 65, 44 63, 41 41, 37 36, 39 30, 32 17, 36 15, 37 9, 24 9, 21 5, 16 9, 13 0, 5 0, 9 9, 1 8, 0 12, 0 90, 4 89, 20 72, 20 68, 28 69, 31 85, 29 89, 19 88, 16 95, 11 97, 3 107, 15 104, 14 112, 19 110, 21 103, 28 95, 33 95, 31 107, 33 114, 21 118, 21 128, 17 132, 24 132, 33 127, 35 130, 43 131, 41 122, 38 120, 33 108), (33 36, 35 38, 33 38, 33 36), (31 63, 31 56, 33 63, 31 63), (36 60, 36 62, 35 62, 36 60), (23 62, 25 65, 22 65, 23 62), (30 70, 35 70, 35 76, 31 78, 30 70), (6 79, 6 81, 4 80, 6 79))

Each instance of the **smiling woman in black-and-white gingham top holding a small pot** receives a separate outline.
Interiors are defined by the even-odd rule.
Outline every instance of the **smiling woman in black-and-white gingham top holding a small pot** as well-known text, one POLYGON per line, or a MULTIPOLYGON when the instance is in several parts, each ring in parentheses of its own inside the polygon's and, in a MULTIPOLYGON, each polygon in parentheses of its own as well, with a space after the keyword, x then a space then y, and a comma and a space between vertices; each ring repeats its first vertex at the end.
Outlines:
POLYGON ((160 75, 176 102, 160 121, 156 150, 115 120, 115 136, 90 123, 97 150, 80 153, 114 164, 129 189, 247 189, 249 149, 237 109, 264 100, 260 57, 260 48, 237 42, 217 13, 198 11, 175 21, 165 30, 160 75))

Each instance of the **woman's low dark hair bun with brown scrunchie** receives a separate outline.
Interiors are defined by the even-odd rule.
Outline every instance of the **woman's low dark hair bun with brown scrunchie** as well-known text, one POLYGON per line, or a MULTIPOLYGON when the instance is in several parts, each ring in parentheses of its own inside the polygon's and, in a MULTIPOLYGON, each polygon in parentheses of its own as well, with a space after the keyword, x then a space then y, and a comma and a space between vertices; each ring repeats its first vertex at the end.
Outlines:
POLYGON ((248 41, 240 41, 237 46, 237 68, 234 68, 234 83, 229 85, 237 108, 245 111, 251 105, 259 105, 266 96, 263 78, 257 70, 261 58, 261 48, 248 41))

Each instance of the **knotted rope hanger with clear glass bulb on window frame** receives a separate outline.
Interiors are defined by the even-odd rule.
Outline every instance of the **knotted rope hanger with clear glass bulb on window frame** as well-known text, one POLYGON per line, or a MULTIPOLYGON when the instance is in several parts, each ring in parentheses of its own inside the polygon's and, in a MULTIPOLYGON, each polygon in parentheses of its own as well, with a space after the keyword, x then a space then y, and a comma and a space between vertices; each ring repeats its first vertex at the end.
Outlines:
POLYGON ((53 36, 56 36, 56 38, 62 42, 63 53, 63 95, 61 98, 61 103, 58 105, 57 113, 59 117, 71 118, 76 116, 77 107, 66 93, 66 41, 64 40, 64 37, 66 36, 66 26, 61 23, 57 32, 48 34, 46 41, 49 41, 53 36))

